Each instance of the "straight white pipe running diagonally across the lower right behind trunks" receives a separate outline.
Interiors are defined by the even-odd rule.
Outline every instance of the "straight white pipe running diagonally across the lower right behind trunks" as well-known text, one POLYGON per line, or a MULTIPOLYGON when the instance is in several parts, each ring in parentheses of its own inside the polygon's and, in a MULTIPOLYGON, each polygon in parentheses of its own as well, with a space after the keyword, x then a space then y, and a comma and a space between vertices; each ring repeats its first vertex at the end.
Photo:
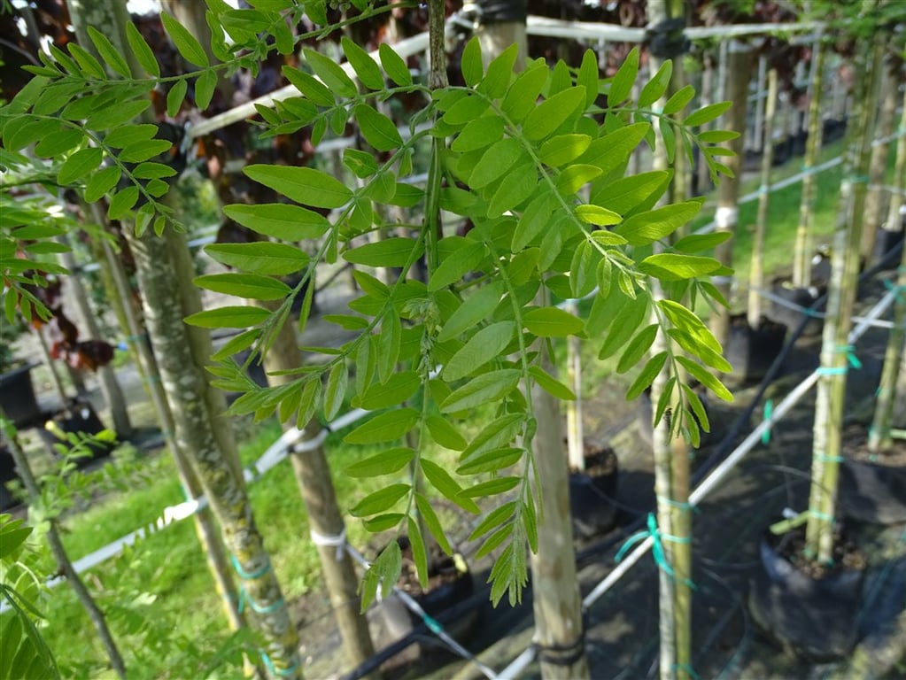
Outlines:
MULTIPOLYGON (((865 331, 871 328, 872 323, 891 306, 892 302, 896 299, 896 296, 896 291, 888 291, 882 299, 872 307, 872 311, 864 317, 864 321, 850 331, 847 340, 854 343, 861 338, 865 331)), ((739 461, 741 461, 748 452, 761 441, 761 436, 766 430, 773 426, 776 421, 786 416, 786 413, 795 406, 799 399, 805 396, 805 393, 808 392, 809 389, 814 387, 814 384, 818 381, 818 376, 819 373, 815 370, 808 378, 805 378, 805 380, 793 388, 786 398, 774 408, 771 415, 759 423, 755 429, 752 430, 751 434, 749 434, 749 436, 747 436, 742 443, 720 463, 720 465, 714 468, 692 493, 689 493, 690 506, 698 505, 705 496, 707 496, 708 493, 710 493, 714 487, 717 486, 717 484, 719 484, 734 467, 736 467, 739 461)), ((622 579, 623 575, 625 575, 636 562, 641 560, 646 552, 651 550, 653 544, 654 539, 651 536, 647 536, 633 551, 624 556, 607 577, 598 583, 598 585, 583 598, 583 608, 591 607, 598 599, 602 598, 604 593, 612 589, 617 581, 622 579)), ((503 672, 501 672, 500 675, 497 675, 497 678, 499 678, 499 680, 513 680, 535 660, 536 654, 537 650, 535 646, 528 647, 521 655, 517 656, 509 666, 506 666, 503 672)))

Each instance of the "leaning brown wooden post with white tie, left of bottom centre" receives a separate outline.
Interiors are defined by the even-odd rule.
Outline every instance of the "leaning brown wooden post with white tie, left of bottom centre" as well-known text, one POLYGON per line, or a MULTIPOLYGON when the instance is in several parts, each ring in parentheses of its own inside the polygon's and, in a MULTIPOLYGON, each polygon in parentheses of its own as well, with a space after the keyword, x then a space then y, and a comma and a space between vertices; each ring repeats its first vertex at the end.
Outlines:
MULTIPOLYGON (((268 311, 275 311, 277 306, 268 302, 253 303, 268 311)), ((267 351, 264 363, 267 380, 272 386, 292 381, 294 376, 275 375, 276 371, 302 367, 299 344, 292 324, 284 323, 274 344, 267 351)), ((293 423, 284 423, 284 429, 291 427, 293 423)), ((321 426, 313 418, 304 427, 302 442, 313 440, 319 436, 320 431, 321 426)), ((293 453, 290 461, 308 513, 312 538, 321 558, 321 571, 331 599, 333 616, 340 628, 344 661, 348 666, 347 670, 352 670, 374 655, 374 645, 371 642, 368 619, 360 613, 359 577, 349 552, 344 549, 345 539, 342 537, 346 535, 346 528, 333 490, 330 465, 323 445, 310 451, 293 453)))

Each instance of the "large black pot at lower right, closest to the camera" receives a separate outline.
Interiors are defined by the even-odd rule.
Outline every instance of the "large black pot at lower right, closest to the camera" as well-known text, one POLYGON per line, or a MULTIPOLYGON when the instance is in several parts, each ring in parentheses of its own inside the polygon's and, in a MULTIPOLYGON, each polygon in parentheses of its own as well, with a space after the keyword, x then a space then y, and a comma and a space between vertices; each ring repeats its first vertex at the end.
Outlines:
MULTIPOLYGON (((857 618, 863 604, 864 564, 816 578, 790 561, 791 546, 804 532, 783 540, 766 534, 759 553, 761 569, 749 589, 748 608, 758 627, 787 651, 809 661, 848 656, 858 642, 857 618)), ((843 546, 843 541, 838 541, 843 546)), ((840 560, 838 563, 845 563, 840 560)))

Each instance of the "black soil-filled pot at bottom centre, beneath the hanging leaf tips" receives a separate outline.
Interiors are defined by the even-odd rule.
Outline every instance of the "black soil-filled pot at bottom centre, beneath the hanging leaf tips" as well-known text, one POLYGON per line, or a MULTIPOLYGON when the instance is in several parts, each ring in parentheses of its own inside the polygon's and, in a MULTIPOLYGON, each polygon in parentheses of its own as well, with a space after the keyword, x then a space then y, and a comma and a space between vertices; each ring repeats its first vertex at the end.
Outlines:
MULTIPOLYGON (((453 556, 449 556, 440 551, 436 545, 432 545, 428 558, 428 589, 423 590, 419 585, 419 577, 412 560, 409 538, 400 536, 397 541, 400 543, 403 562, 397 587, 418 602, 429 617, 442 618, 443 612, 472 596, 475 584, 466 560, 461 554, 455 552, 453 556)), ((389 598, 381 600, 380 614, 385 626, 395 638, 408 636, 423 623, 419 615, 406 607, 395 592, 389 598)), ((452 637, 459 639, 474 632, 476 621, 477 609, 473 608, 466 615, 443 625, 452 637)))

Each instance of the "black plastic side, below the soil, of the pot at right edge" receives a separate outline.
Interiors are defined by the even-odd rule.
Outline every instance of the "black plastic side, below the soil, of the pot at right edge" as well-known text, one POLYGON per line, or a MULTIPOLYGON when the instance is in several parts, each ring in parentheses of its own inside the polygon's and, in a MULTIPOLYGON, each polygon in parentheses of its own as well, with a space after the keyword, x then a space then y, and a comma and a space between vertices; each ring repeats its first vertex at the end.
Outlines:
POLYGON ((906 467, 845 461, 840 465, 840 510, 859 522, 906 522, 906 467))

